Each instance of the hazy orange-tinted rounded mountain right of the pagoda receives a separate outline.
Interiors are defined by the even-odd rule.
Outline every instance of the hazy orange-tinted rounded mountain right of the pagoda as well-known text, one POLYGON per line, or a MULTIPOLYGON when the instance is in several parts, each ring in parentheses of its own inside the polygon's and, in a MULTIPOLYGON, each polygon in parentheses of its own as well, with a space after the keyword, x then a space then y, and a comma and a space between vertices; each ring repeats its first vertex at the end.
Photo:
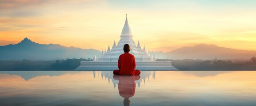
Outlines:
POLYGON ((193 47, 182 47, 171 52, 155 52, 155 57, 160 59, 234 59, 252 58, 256 56, 256 51, 230 49, 217 45, 199 44, 193 47))

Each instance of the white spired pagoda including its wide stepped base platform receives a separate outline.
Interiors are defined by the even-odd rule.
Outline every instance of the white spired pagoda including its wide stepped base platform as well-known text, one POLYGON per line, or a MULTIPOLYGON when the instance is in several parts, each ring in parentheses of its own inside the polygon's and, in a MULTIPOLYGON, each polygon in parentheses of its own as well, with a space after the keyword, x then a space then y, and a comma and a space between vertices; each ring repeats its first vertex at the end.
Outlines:
POLYGON ((136 45, 132 37, 132 31, 126 15, 118 44, 116 45, 116 41, 114 40, 112 49, 109 46, 105 52, 102 50, 101 55, 98 54, 98 56, 94 53, 93 61, 81 61, 80 66, 75 70, 109 71, 118 69, 117 62, 119 56, 124 53, 124 44, 130 45, 131 50, 129 53, 135 57, 136 69, 141 71, 178 70, 172 66, 171 61, 155 61, 155 53, 150 57, 149 51, 146 52, 145 45, 142 49, 140 41, 136 45))

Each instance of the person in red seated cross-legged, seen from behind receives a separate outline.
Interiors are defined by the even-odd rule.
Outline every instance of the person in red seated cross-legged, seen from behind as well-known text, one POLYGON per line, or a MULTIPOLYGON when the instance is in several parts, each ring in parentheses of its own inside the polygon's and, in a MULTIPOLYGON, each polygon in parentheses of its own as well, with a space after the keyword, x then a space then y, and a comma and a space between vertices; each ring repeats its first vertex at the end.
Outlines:
POLYGON ((118 58, 119 70, 114 70, 114 75, 140 75, 140 70, 136 70, 135 57, 130 54, 130 45, 124 44, 124 53, 118 58))

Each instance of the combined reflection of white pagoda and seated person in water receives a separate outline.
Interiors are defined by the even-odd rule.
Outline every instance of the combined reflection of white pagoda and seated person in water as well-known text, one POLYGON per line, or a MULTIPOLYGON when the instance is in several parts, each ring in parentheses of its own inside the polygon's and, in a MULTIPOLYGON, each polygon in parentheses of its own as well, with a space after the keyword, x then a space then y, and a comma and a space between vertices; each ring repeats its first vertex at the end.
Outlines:
MULTIPOLYGON (((97 71, 98 77, 100 77, 100 71, 97 71)), ((136 84, 140 89, 140 83, 149 81, 149 78, 155 79, 155 71, 142 71, 138 76, 113 76, 112 71, 101 71, 101 79, 105 78, 113 83, 114 89, 118 85, 118 92, 121 97, 124 98, 124 106, 130 106, 131 101, 129 98, 135 95, 136 84)), ((93 78, 96 78, 96 71, 93 71, 93 78)))

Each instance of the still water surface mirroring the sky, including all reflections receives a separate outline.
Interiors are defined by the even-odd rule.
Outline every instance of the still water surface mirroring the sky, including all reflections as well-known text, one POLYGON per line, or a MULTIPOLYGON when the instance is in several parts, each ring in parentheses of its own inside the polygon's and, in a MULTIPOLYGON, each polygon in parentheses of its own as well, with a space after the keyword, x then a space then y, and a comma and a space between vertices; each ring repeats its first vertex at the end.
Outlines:
POLYGON ((256 106, 256 71, 0 71, 0 106, 256 106))

